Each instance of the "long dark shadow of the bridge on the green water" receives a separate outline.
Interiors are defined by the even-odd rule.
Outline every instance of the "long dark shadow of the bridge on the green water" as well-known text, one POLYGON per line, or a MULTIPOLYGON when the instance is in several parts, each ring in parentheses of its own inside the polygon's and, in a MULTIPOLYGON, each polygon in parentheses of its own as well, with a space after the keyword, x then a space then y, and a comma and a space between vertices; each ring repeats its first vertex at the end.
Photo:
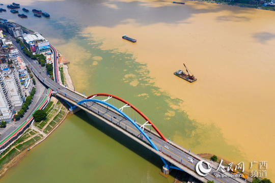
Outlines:
MULTIPOLYGON (((125 134, 119 132, 118 130, 114 129, 113 127, 107 125, 102 120, 98 119, 97 117, 93 116, 92 114, 85 112, 85 111, 78 111, 75 113, 77 117, 79 117, 82 120, 85 120, 88 124, 96 128, 97 130, 100 130, 104 134, 106 134, 108 137, 116 140, 123 146, 130 149, 133 153, 136 155, 139 155, 146 161, 152 163, 156 167, 159 168, 159 171, 162 170, 163 162, 161 161, 160 157, 154 154, 151 150, 147 149, 140 143, 137 143, 133 139, 129 138, 125 134)), ((100 140, 100 139, 98 139, 100 140)), ((116 149, 114 149, 116 150, 116 149)), ((173 170, 170 175, 173 177, 176 177, 177 171, 173 170)))

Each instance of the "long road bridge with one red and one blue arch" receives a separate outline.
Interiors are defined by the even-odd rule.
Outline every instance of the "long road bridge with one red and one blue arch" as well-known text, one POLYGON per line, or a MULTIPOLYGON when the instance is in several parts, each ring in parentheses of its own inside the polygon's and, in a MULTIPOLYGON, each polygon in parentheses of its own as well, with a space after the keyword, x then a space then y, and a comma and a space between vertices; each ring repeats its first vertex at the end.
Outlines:
MULTIPOLYGON (((12 42, 16 47, 19 46, 14 40, 12 42)), ((21 49, 18 50, 21 51, 21 49)), ((56 53, 54 55, 57 58, 56 53)), ((162 172, 164 174, 169 174, 172 169, 178 169, 203 182, 207 182, 207 180, 224 183, 245 182, 239 177, 230 177, 232 174, 227 171, 223 172, 220 169, 216 171, 217 167, 214 165, 212 165, 211 171, 216 171, 215 174, 220 175, 219 177, 211 173, 207 173, 205 176, 199 175, 196 171, 196 165, 204 159, 178 144, 168 141, 152 121, 133 105, 114 95, 95 94, 86 97, 84 94, 82 95, 74 90, 65 88, 59 84, 58 80, 55 79, 53 81, 45 73, 41 72, 41 68, 34 60, 26 58, 23 54, 22 57, 24 57, 25 63, 29 65, 36 77, 47 87, 51 88, 54 95, 70 105, 70 113, 75 113, 80 109, 85 110, 137 143, 142 144, 163 161, 162 172), (127 113, 127 111, 130 112, 127 113), (138 118, 141 118, 141 120, 136 121, 138 118), (190 161, 190 159, 193 161, 190 161)), ((58 67, 54 66, 53 68, 54 73, 58 73, 58 67)), ((203 163, 202 166, 207 169, 207 164, 203 163)))

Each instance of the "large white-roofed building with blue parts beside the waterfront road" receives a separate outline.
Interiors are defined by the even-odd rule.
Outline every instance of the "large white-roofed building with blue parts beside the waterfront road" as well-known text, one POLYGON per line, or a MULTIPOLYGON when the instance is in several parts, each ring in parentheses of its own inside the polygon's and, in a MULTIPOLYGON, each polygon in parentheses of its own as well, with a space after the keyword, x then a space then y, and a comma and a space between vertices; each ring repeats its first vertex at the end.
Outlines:
POLYGON ((39 34, 27 34, 23 37, 23 42, 26 47, 33 54, 44 54, 50 53, 50 46, 48 40, 39 34))

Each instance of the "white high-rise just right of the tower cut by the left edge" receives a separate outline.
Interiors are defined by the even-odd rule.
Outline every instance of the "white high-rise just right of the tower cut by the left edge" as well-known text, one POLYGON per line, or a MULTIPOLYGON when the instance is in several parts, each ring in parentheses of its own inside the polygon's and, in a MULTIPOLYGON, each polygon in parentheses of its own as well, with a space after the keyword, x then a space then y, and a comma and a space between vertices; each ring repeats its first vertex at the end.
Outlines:
POLYGON ((18 72, 14 68, 4 68, 2 74, 4 75, 4 82, 7 86, 15 110, 20 110, 25 101, 25 95, 18 77, 18 72))

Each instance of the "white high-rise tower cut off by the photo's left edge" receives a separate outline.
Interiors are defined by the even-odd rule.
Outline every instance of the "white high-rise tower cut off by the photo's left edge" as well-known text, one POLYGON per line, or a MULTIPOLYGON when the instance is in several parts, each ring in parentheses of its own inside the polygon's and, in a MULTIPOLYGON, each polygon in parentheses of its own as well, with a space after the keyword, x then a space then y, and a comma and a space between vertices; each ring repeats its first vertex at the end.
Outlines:
POLYGON ((14 106, 2 73, 0 73, 0 85, 0 120, 9 123, 13 118, 14 106))

